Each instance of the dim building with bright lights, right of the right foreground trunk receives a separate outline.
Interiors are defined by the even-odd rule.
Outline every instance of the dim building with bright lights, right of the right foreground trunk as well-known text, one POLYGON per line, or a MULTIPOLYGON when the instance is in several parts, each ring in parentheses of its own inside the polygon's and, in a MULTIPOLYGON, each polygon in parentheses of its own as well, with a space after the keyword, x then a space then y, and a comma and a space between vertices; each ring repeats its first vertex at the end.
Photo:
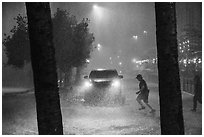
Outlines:
POLYGON ((177 3, 177 36, 181 71, 202 70, 202 3, 177 3))

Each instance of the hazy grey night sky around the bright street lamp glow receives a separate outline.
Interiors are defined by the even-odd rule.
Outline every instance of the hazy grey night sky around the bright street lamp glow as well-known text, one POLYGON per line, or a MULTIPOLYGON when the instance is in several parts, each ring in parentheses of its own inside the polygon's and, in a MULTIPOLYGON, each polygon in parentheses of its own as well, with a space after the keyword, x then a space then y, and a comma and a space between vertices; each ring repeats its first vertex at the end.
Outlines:
MULTIPOLYGON (((156 57, 154 3, 54 2, 50 3, 50 6, 52 15, 57 8, 60 8, 75 15, 78 21, 82 18, 90 19, 90 32, 93 32, 96 38, 94 44, 100 43, 102 45, 100 51, 96 50, 92 53, 89 65, 91 68, 117 68, 119 62, 122 62, 123 67, 131 68, 133 67, 131 66, 132 58, 156 57), (97 5, 98 8, 94 9, 94 5, 97 5), (137 36, 137 39, 134 39, 133 36, 137 36), (110 64, 110 57, 116 66, 110 64)), ((18 14, 26 16, 25 4, 3 3, 2 9, 2 31, 9 34, 9 31, 15 25, 13 18, 18 14)))

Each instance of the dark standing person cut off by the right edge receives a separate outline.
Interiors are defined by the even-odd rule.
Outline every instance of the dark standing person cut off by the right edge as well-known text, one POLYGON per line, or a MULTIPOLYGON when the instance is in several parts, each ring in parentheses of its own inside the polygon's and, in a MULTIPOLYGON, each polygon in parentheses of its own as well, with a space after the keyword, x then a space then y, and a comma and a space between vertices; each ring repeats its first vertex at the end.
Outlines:
POLYGON ((194 97, 193 97, 193 109, 192 111, 196 111, 197 101, 202 104, 202 83, 200 77, 195 75, 194 77, 194 97))

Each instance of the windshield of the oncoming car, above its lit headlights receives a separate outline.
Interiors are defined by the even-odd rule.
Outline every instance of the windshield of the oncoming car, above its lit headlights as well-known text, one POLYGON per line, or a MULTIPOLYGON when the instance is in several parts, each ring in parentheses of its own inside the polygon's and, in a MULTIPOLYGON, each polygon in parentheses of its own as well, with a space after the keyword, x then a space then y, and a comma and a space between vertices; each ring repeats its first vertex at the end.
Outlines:
POLYGON ((101 71, 91 71, 89 78, 114 78, 118 77, 116 70, 101 70, 101 71))

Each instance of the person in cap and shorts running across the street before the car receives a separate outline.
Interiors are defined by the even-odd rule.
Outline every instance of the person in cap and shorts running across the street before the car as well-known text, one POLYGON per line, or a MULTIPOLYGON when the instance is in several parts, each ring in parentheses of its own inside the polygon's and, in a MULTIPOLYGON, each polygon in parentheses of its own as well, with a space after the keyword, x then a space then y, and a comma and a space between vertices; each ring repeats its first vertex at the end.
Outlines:
POLYGON ((141 74, 138 74, 136 78, 140 82, 140 90, 136 92, 136 94, 139 94, 136 100, 141 105, 141 108, 139 108, 139 110, 145 109, 145 106, 142 104, 143 100, 143 102, 151 109, 150 113, 155 112, 155 110, 148 103, 149 89, 147 87, 146 81, 143 79, 141 74))

